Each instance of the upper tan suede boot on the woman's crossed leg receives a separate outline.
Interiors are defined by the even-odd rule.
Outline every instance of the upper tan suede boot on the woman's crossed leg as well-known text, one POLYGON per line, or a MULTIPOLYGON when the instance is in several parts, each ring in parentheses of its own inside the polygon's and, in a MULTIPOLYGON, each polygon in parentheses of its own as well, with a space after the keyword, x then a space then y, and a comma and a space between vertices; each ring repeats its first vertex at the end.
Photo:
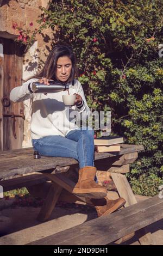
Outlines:
POLYGON ((80 197, 104 198, 107 194, 105 187, 96 183, 96 167, 85 166, 79 169, 79 179, 72 193, 80 197))

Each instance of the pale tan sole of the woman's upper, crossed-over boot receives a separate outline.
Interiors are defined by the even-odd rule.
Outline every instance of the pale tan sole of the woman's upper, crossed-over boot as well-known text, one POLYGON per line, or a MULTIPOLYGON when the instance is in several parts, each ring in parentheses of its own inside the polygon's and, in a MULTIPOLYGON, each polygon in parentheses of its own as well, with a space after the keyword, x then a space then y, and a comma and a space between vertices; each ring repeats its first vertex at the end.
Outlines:
POLYGON ((79 197, 88 197, 88 198, 104 198, 107 195, 107 190, 105 188, 98 189, 98 188, 90 188, 90 189, 81 189, 81 188, 74 188, 72 191, 73 194, 76 194, 76 196, 79 197))

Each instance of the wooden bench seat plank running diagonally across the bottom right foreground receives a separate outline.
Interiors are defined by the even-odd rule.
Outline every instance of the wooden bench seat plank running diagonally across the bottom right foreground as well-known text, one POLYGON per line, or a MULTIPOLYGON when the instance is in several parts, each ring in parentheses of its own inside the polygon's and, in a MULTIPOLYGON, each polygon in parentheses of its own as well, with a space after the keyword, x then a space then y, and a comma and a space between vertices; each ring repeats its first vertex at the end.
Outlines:
POLYGON ((163 200, 155 196, 28 245, 107 245, 162 218, 163 200))

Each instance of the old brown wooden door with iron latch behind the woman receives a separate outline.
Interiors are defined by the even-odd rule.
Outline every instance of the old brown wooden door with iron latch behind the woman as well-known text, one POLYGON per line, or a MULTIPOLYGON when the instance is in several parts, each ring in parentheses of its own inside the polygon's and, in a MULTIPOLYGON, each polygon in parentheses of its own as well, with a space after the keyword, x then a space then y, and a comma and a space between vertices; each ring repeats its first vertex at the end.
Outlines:
POLYGON ((22 84, 22 48, 13 40, 0 38, 0 150, 22 148, 23 102, 9 99, 11 89, 22 84))

